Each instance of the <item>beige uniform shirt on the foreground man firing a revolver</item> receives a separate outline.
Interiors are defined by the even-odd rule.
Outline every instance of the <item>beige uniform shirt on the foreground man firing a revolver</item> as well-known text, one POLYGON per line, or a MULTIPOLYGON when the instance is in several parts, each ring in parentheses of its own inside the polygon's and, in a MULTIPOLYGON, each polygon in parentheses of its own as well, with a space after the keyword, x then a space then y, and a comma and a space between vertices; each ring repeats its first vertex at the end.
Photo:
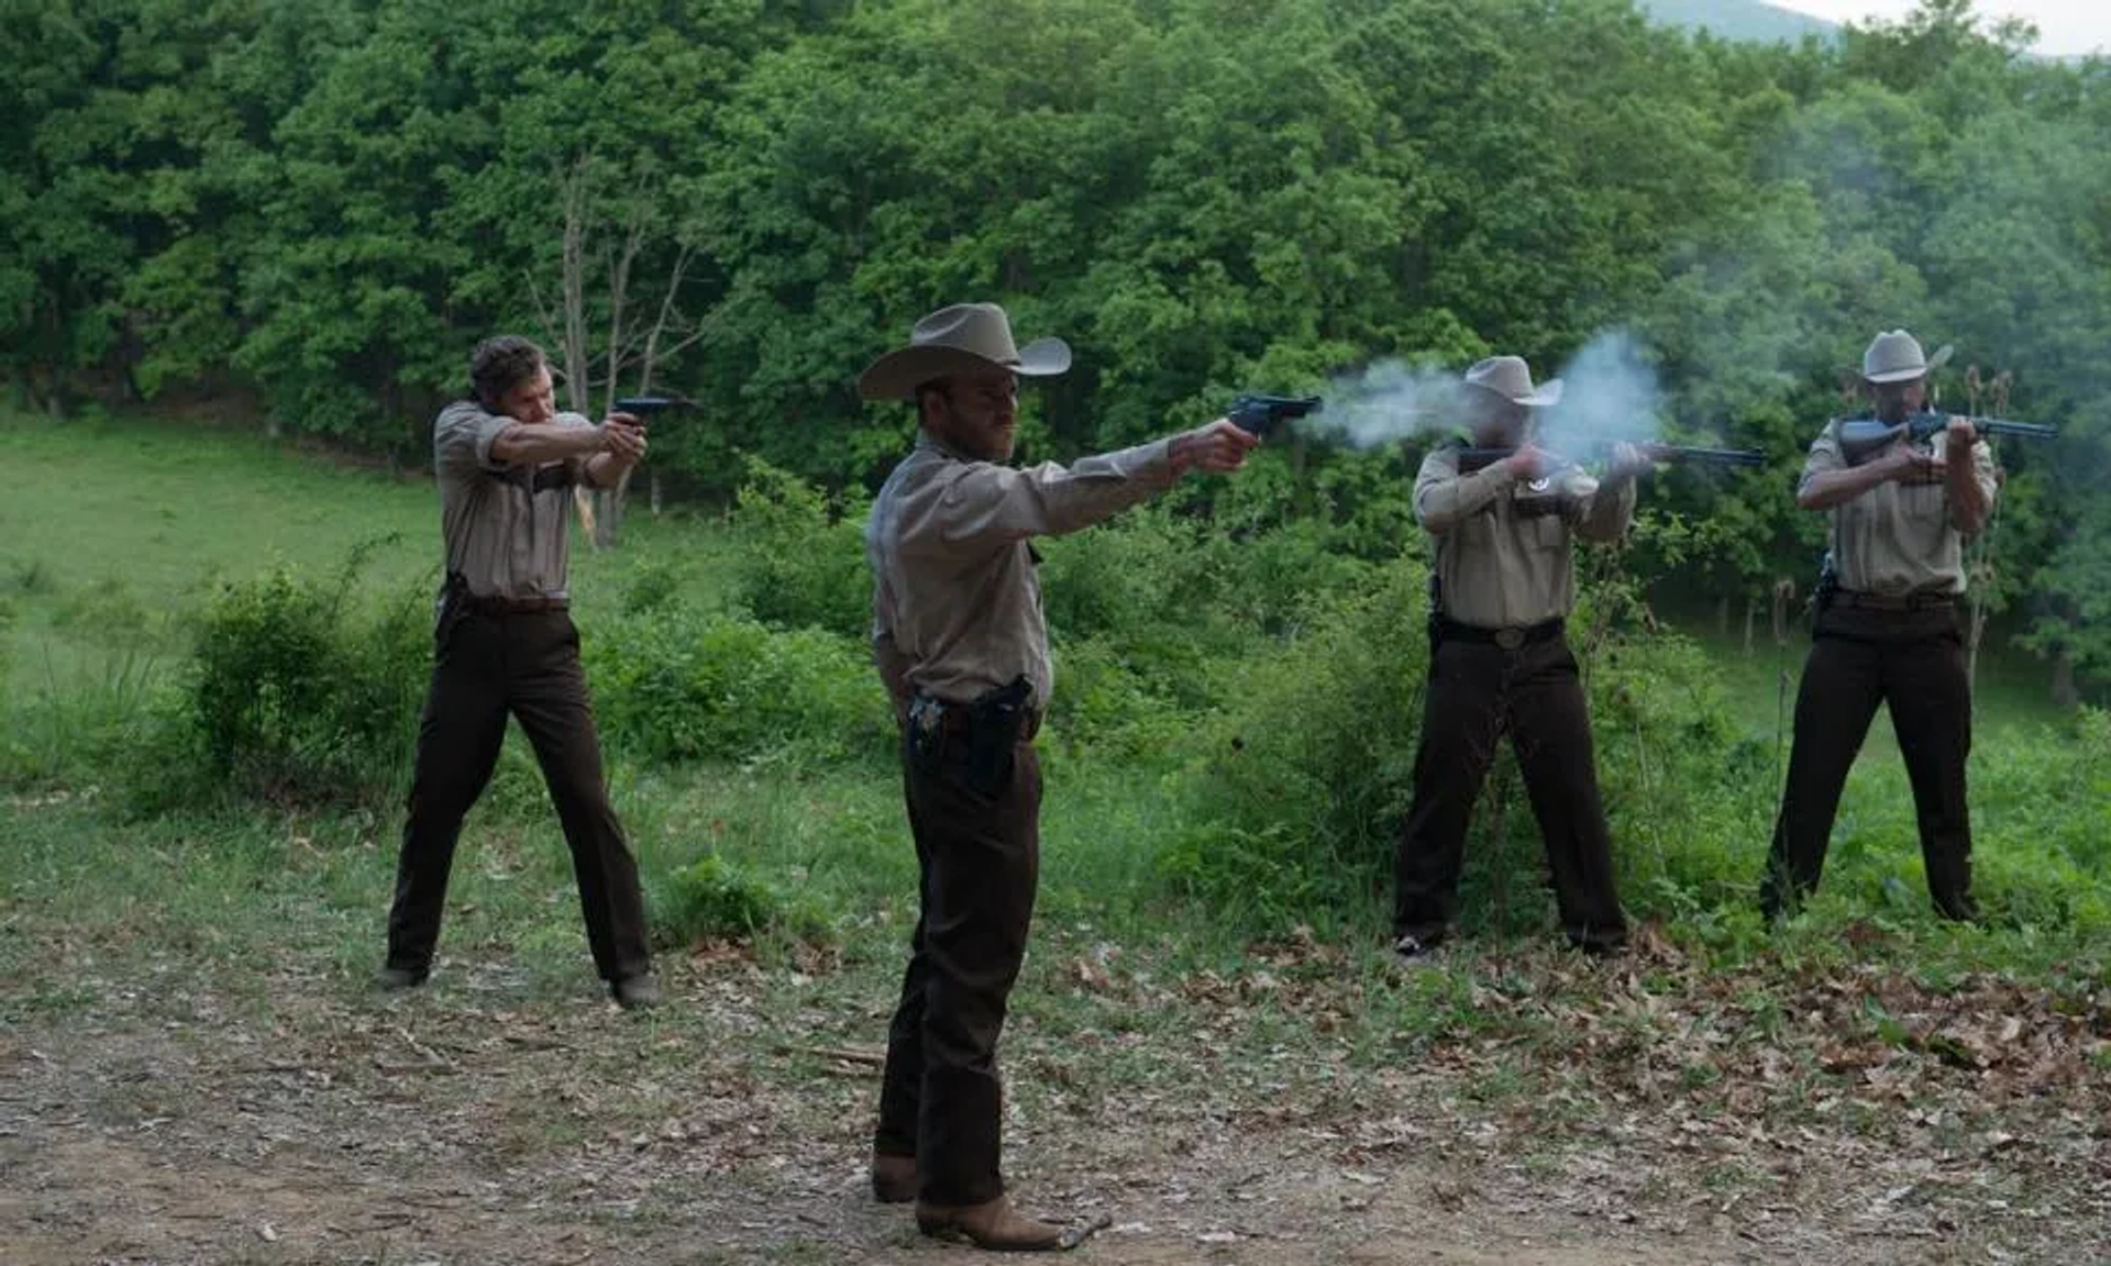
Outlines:
POLYGON ((971 703, 1024 673, 1034 711, 1045 709, 1056 679, 1026 538, 1091 528, 1169 487, 1167 449, 1161 439, 1020 471, 918 437, 866 523, 872 641, 889 688, 971 703))

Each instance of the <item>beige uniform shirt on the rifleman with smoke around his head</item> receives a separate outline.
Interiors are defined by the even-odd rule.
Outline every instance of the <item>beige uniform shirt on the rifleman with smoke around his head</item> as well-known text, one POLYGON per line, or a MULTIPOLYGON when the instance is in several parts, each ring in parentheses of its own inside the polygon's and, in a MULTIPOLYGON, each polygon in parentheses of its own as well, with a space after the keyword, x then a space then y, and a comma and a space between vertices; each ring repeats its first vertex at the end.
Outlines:
POLYGON ((1634 519, 1634 481, 1600 496, 1577 466, 1530 483, 1503 462, 1461 475, 1459 452, 1438 447, 1414 479, 1414 517, 1438 538, 1444 616, 1476 629, 1568 616, 1577 599, 1571 538, 1619 540, 1634 519))

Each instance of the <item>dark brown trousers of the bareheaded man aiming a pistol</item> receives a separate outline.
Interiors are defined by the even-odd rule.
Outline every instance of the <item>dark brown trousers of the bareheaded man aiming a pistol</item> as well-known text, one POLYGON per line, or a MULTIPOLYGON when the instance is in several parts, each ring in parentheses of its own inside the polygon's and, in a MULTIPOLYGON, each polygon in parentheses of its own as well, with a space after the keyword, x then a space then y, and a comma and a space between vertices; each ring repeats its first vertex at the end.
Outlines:
POLYGON ((650 971, 638 861, 602 783, 578 629, 557 612, 467 614, 443 625, 418 726, 418 764, 388 909, 388 966, 424 973, 439 941, 448 871, 462 817, 483 795, 515 715, 564 823, 587 916, 587 945, 606 981, 650 971))

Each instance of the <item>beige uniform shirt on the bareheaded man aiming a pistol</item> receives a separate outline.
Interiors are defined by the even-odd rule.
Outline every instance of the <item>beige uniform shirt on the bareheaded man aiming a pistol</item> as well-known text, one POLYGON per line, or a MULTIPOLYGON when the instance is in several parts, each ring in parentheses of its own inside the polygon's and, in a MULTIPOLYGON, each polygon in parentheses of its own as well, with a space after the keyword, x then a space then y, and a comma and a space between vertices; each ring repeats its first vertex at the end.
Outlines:
MULTIPOLYGON (((555 424, 593 426, 578 414, 557 414, 555 424)), ((511 426, 519 422, 475 401, 456 401, 433 422, 448 572, 460 572, 477 597, 566 597, 581 462, 528 468, 492 460, 492 441, 511 426)))

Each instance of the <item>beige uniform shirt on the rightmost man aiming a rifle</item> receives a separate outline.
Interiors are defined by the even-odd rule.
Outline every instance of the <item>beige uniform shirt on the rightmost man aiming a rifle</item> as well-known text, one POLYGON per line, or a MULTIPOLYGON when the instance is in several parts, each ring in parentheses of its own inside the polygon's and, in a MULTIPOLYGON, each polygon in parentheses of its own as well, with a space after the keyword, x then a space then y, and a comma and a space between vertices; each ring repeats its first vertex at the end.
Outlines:
MULTIPOLYGON (((1847 468, 1837 433, 1839 422, 1828 422, 1811 443, 1803 462, 1805 483, 1811 475, 1847 468)), ((1942 435, 1934 437, 1936 460, 1944 443, 1942 435)), ((1984 439, 1972 445, 1972 473, 1991 509, 1997 487, 1993 449, 1984 439)), ((1957 532, 1946 483, 1879 483, 1832 506, 1830 536, 1832 574, 1841 589, 1883 595, 1965 591, 1965 538, 1957 532)))

